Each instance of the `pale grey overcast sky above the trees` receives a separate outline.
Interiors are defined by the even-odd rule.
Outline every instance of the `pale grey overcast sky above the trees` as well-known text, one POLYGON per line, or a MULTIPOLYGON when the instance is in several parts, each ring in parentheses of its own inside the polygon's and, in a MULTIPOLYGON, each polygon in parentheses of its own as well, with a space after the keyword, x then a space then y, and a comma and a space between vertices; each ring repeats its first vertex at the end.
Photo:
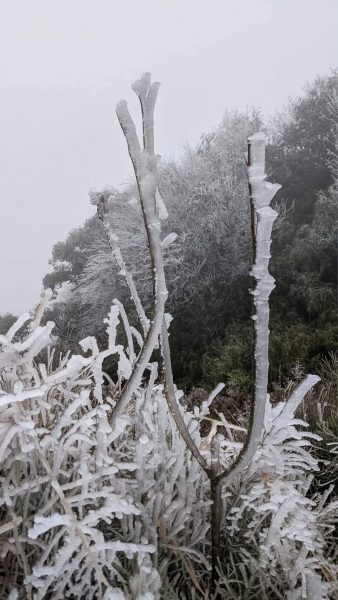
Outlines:
MULTIPOLYGON (((39 299, 53 244, 131 176, 114 113, 161 82, 156 151, 179 157, 227 107, 264 114, 337 62, 337 0, 0 0, 0 313, 39 299)), ((135 114, 134 113, 134 114, 135 114)))

